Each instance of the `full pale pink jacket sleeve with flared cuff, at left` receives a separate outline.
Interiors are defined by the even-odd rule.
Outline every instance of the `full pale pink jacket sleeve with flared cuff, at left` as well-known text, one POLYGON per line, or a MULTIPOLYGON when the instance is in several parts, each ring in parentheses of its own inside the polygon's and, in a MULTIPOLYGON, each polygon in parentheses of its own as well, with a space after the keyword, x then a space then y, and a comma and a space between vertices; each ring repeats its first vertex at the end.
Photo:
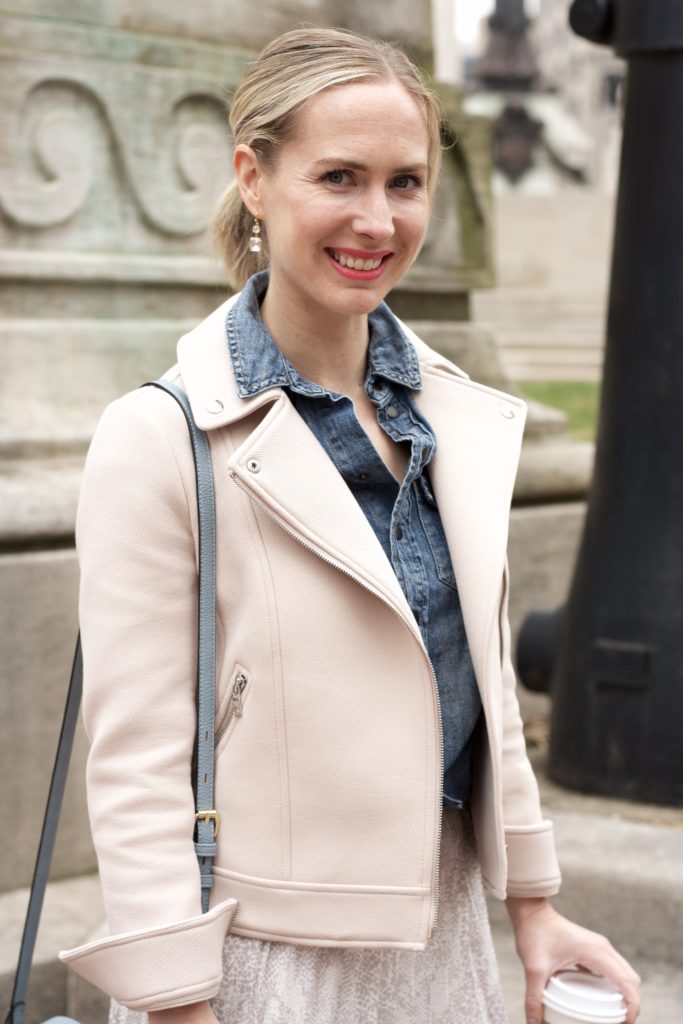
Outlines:
POLYGON ((180 410, 153 388, 114 402, 76 528, 88 810, 113 934, 60 956, 135 1010, 216 993, 237 905, 202 914, 193 843, 196 531, 180 410))

